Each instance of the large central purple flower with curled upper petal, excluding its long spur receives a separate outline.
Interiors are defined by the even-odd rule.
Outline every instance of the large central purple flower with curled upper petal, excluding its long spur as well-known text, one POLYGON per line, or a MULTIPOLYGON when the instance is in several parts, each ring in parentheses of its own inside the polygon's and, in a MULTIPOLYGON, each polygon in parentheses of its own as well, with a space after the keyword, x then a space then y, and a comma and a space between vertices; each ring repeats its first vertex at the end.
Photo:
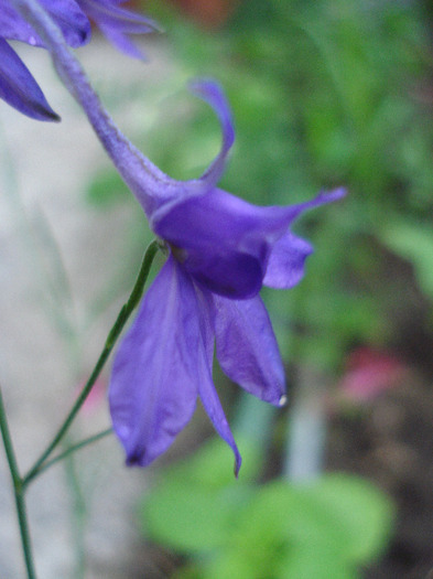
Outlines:
POLYGON ((212 379, 214 345, 229 378, 275 406, 285 400, 283 364, 259 291, 302 279, 312 247, 289 226, 344 190, 270 207, 221 191, 216 182, 234 142, 230 111, 215 83, 195 83, 193 90, 214 107, 223 128, 221 151, 201 179, 171 180, 145 158, 138 178, 137 150, 118 159, 169 257, 117 352, 110 411, 127 463, 147 465, 170 447, 199 398, 231 447, 237 473, 240 454, 212 379))

